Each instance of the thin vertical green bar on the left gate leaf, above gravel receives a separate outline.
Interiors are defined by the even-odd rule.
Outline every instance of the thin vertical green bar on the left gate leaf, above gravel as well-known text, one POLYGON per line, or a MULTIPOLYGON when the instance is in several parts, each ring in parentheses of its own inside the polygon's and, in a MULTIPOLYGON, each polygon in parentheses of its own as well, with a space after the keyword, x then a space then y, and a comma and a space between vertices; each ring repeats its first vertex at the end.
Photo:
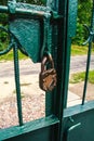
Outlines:
POLYGON ((21 98, 21 85, 19 85, 19 67, 18 67, 18 49, 17 44, 14 44, 14 70, 15 70, 15 87, 16 87, 16 99, 17 99, 17 112, 19 126, 23 125, 23 114, 22 114, 22 98, 21 98))

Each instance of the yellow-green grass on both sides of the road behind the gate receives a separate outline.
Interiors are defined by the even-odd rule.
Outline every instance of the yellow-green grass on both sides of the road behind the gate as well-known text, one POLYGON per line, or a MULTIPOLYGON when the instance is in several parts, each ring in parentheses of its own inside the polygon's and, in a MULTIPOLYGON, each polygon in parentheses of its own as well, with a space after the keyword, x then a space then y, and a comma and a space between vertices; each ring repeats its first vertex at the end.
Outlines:
MULTIPOLYGON (((88 47, 81 47, 81 46, 71 46, 71 55, 84 55, 88 53, 88 47)), ((94 54, 94 44, 92 48, 92 54, 94 54)), ((18 51, 19 60, 27 59, 25 54, 23 54, 21 51, 18 51)), ((13 51, 10 51, 5 55, 0 56, 0 61, 11 61, 13 60, 13 51)), ((69 80, 70 84, 77 84, 80 81, 84 81, 85 73, 77 73, 71 75, 71 78, 69 80)), ((89 74, 89 82, 94 84, 94 70, 90 70, 89 74)))

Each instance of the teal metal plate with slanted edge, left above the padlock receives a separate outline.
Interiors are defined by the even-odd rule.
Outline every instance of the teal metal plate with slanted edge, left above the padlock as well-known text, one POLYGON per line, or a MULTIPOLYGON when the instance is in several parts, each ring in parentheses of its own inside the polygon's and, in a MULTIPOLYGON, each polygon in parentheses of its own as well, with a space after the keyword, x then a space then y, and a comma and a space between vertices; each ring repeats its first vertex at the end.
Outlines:
POLYGON ((15 18, 10 22, 10 30, 16 37, 22 48, 33 62, 40 59, 42 40, 41 23, 38 20, 15 18))

